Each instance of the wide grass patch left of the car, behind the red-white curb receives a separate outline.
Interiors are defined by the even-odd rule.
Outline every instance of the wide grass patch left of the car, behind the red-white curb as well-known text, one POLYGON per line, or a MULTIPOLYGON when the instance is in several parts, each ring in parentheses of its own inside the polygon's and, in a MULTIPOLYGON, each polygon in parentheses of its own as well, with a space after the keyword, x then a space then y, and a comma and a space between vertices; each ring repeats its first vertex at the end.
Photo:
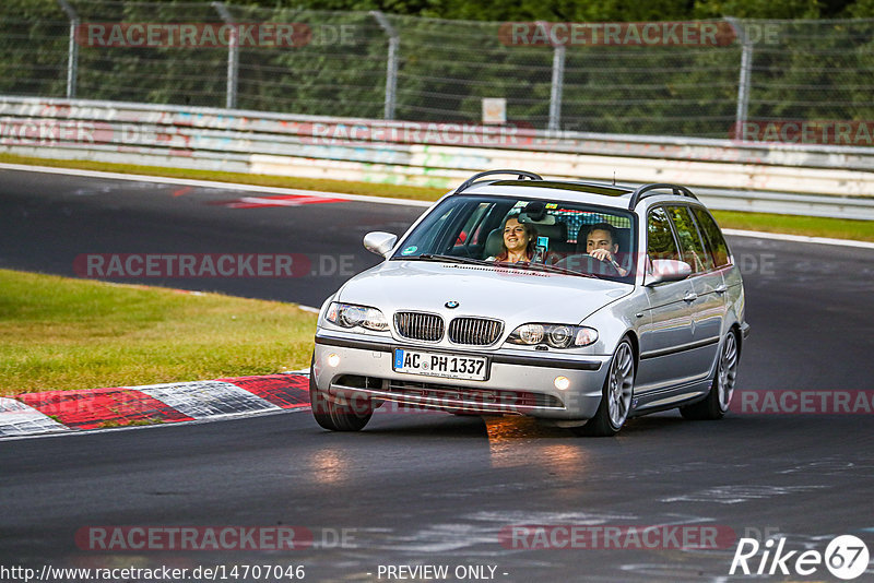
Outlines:
POLYGON ((0 394, 269 374, 309 365, 293 304, 0 270, 0 394))

